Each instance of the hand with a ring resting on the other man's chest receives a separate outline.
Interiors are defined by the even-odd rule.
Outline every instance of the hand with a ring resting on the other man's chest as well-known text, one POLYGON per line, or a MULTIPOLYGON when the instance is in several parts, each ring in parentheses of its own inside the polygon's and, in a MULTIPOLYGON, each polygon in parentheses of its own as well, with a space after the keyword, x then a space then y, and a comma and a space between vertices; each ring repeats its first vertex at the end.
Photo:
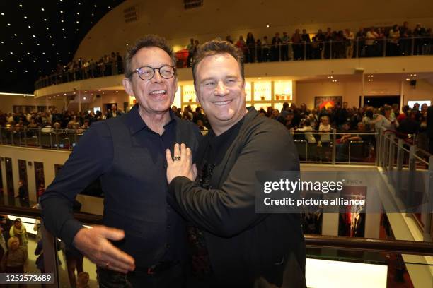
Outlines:
POLYGON ((187 148, 186 145, 182 143, 179 151, 179 144, 176 143, 173 153, 174 159, 176 160, 173 160, 171 157, 170 150, 166 150, 168 184, 177 176, 185 176, 191 181, 194 181, 195 177, 197 177, 197 167, 195 164, 192 164, 192 152, 190 148, 187 148))

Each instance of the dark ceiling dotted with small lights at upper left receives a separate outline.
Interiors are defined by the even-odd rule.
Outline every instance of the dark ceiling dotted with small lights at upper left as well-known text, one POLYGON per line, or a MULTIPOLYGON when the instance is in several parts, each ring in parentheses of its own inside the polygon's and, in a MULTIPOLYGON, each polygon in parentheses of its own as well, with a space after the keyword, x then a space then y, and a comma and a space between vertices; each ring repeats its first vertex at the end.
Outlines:
POLYGON ((33 93, 35 80, 71 61, 93 25, 123 1, 1 0, 0 92, 33 93))

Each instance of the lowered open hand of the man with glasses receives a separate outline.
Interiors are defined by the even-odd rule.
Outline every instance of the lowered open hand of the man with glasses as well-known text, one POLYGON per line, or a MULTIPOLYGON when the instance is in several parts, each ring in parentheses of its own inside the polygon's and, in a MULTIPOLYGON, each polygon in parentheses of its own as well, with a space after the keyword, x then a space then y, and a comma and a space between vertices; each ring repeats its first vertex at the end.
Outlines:
POLYGON ((134 258, 108 241, 124 237, 125 233, 120 229, 105 226, 83 228, 75 235, 74 246, 96 265, 126 274, 135 269, 134 258))

